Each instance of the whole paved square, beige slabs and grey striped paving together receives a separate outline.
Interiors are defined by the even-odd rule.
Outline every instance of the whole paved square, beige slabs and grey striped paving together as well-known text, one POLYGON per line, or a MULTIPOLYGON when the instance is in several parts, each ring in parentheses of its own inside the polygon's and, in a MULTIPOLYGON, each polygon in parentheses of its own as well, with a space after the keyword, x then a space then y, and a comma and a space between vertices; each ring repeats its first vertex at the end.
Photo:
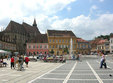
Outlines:
POLYGON ((0 68, 0 83, 113 83, 113 57, 107 56, 107 69, 100 69, 100 57, 82 56, 66 63, 30 62, 24 71, 0 68))

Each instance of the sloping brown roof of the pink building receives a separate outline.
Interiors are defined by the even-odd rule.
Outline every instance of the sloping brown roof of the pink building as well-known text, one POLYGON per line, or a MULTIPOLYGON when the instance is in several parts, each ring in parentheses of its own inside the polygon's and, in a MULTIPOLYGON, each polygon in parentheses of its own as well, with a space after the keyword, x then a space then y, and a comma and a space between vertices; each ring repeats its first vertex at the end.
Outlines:
POLYGON ((28 41, 28 43, 48 43, 47 34, 37 35, 34 39, 28 41))

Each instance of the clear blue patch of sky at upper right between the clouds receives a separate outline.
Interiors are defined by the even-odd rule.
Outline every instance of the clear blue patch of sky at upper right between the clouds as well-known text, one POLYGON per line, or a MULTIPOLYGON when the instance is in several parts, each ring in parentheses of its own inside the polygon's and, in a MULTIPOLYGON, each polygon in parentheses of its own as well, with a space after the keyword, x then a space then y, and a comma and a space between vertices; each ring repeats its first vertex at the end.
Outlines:
POLYGON ((61 18, 73 18, 81 14, 88 16, 91 14, 91 18, 97 18, 97 14, 113 13, 112 9, 113 0, 77 0, 68 5, 71 8, 70 11, 67 11, 67 8, 64 8, 61 12, 58 12, 56 15, 61 16, 61 18), (95 6, 97 9, 92 9, 91 7, 95 6))

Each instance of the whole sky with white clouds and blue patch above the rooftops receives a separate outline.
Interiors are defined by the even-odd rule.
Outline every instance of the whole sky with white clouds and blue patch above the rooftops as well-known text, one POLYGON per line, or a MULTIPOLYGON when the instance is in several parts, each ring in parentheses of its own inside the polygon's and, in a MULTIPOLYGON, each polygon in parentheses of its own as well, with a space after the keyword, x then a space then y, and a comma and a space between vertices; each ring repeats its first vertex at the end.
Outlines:
POLYGON ((11 20, 33 24, 41 33, 71 30, 92 40, 113 33, 113 0, 0 0, 0 31, 11 20))

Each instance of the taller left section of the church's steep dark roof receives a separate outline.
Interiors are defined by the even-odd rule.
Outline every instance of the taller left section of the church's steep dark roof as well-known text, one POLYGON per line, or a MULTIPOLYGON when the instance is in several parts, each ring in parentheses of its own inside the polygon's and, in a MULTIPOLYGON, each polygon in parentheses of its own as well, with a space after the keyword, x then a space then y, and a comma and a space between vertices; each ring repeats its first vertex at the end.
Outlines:
POLYGON ((10 23, 3 32, 18 32, 23 34, 26 33, 26 30, 21 24, 14 21, 10 21, 10 23))

